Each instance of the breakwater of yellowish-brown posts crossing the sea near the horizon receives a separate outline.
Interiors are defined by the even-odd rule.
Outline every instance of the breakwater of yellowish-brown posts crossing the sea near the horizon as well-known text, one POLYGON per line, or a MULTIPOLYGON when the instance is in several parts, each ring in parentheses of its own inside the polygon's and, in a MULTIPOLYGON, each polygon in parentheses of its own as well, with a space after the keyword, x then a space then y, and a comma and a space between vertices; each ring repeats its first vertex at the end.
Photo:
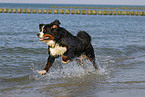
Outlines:
POLYGON ((145 7, 73 7, 51 5, 47 9, 0 8, 0 13, 145 16, 145 7))

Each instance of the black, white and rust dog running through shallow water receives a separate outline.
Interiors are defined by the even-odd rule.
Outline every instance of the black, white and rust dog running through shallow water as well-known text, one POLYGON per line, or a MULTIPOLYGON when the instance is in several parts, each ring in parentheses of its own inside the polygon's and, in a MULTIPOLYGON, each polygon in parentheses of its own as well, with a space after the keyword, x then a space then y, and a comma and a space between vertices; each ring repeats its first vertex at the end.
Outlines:
POLYGON ((59 25, 59 20, 55 20, 51 24, 39 25, 40 32, 37 36, 41 42, 46 42, 49 45, 49 57, 46 67, 39 73, 45 74, 48 72, 55 58, 59 56, 62 56, 63 63, 68 63, 75 57, 85 56, 93 63, 95 69, 98 69, 90 35, 85 31, 80 31, 77 36, 73 36, 59 25))

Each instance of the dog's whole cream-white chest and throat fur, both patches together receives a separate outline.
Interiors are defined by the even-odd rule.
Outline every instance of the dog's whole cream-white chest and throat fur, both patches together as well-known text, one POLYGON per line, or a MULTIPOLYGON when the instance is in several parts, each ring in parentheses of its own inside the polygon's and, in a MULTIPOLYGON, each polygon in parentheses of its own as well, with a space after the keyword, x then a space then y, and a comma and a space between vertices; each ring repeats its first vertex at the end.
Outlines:
POLYGON ((59 46, 59 44, 57 43, 55 44, 54 41, 49 41, 47 42, 47 44, 51 46, 49 48, 49 51, 50 51, 50 55, 52 56, 63 55, 67 51, 66 47, 59 46))

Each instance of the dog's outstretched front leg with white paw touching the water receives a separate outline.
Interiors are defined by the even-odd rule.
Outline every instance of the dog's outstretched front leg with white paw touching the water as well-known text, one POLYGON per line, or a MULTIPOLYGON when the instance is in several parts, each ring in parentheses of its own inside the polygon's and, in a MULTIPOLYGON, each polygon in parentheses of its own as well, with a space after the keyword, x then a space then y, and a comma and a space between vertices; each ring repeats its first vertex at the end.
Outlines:
POLYGON ((41 75, 46 74, 46 72, 48 72, 49 68, 52 66, 52 64, 53 64, 54 61, 55 61, 55 57, 49 55, 49 57, 48 57, 48 59, 47 59, 47 64, 46 64, 44 70, 40 71, 39 73, 40 73, 41 75))

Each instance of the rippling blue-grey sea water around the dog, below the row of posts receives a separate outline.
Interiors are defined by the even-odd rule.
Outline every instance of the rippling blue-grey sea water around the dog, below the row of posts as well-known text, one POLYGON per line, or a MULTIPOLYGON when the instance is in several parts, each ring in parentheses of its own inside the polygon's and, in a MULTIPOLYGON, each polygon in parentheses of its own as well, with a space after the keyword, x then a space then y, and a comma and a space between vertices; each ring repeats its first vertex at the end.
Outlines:
POLYGON ((144 96, 145 17, 0 13, 0 97, 144 96), (82 67, 58 58, 38 73, 48 57, 39 24, 55 19, 73 35, 91 35, 99 70, 89 60, 82 67))

